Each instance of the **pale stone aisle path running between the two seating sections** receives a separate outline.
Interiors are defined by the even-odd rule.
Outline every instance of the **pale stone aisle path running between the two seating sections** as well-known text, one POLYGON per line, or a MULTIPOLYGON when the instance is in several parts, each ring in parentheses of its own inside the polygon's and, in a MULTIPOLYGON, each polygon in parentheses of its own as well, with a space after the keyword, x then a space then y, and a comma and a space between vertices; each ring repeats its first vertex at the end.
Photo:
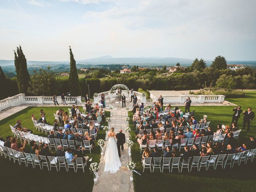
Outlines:
MULTIPOLYGON (((126 128, 126 110, 124 108, 121 110, 121 107, 117 109, 114 108, 111 112, 111 123, 110 128, 114 127, 115 132, 118 133, 118 130, 122 128, 123 133, 125 134, 126 140, 128 134, 125 132, 126 128)), ((106 149, 107 142, 105 142, 104 151, 106 149)), ((98 178, 97 184, 94 184, 93 192, 133 192, 133 182, 130 182, 130 176, 132 172, 128 171, 126 164, 131 158, 128 156, 128 147, 124 144, 124 150, 121 150, 121 164, 120 170, 114 174, 109 172, 104 172, 104 156, 100 158, 100 170, 98 172, 100 178, 98 178)))

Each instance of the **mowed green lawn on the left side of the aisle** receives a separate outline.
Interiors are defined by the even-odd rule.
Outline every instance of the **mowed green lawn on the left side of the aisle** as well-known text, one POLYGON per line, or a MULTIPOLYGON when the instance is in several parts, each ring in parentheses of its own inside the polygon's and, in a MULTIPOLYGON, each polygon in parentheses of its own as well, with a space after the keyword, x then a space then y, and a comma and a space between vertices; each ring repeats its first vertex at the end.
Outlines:
MULTIPOLYGON (((40 118, 40 109, 46 112, 46 120, 49 124, 53 124, 54 115, 58 110, 58 107, 28 107, 8 118, 0 121, 0 136, 4 139, 8 135, 12 135, 10 125, 14 126, 16 120, 22 120, 22 126, 33 130, 34 134, 40 136, 46 136, 42 132, 38 132, 34 129, 31 114, 35 114, 36 118, 40 118)), ((67 107, 62 107, 65 111, 68 111, 67 107)), ((110 117, 110 112, 105 111, 106 117, 110 117)), ((106 125, 104 123, 103 125, 106 125)), ((100 131, 98 139, 105 138, 105 132, 100 131)), ((29 148, 29 146, 27 146, 29 148)), ((55 153, 55 152, 54 152, 55 153)), ((86 155, 92 158, 92 162, 100 162, 100 147, 96 144, 96 147, 92 150, 92 154, 86 155)), ((39 166, 35 169, 30 165, 26 167, 25 164, 21 166, 16 162, 9 161, 0 157, 0 191, 92 191, 94 182, 93 175, 89 170, 89 163, 85 168, 85 172, 78 169, 77 173, 74 173, 74 169, 71 168, 66 172, 65 168, 61 168, 60 172, 56 171, 56 168, 52 168, 48 171, 46 167, 44 170, 40 170, 39 166)))

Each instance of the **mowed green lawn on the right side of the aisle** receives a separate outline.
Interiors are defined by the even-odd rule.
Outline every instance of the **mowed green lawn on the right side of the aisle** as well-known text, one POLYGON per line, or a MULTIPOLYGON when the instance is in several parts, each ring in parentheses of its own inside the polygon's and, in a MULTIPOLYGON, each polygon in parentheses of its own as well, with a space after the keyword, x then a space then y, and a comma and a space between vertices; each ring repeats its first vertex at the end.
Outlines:
MULTIPOLYGON (((253 111, 256 111, 256 91, 246 91, 246 98, 234 98, 226 99, 232 103, 242 106, 242 110, 246 110, 248 107, 252 107, 253 111)), ((193 102, 193 101, 192 101, 193 102)), ((181 107, 184 110, 184 107, 181 107)), ((232 109, 234 106, 191 106, 190 110, 195 111, 196 120, 200 120, 203 115, 208 116, 208 121, 211 121, 210 127, 215 131, 217 124, 231 124, 232 109)), ((132 112, 129 113, 130 119, 132 119, 132 112)), ((256 119, 251 122, 250 132, 242 130, 238 145, 242 142, 247 142, 249 136, 256 136, 256 119)), ((242 128, 243 116, 238 121, 239 129, 242 128)), ((133 127, 130 120, 130 127, 133 127)), ((133 129, 135 130, 135 129, 133 129)), ((178 173, 177 169, 174 169, 172 173, 168 170, 164 170, 163 173, 159 169, 154 170, 154 173, 150 173, 149 169, 145 169, 144 173, 139 145, 135 138, 134 131, 131 132, 134 146, 132 147, 132 160, 136 162, 136 168, 140 172, 141 176, 133 173, 134 176, 134 191, 239 191, 249 192, 255 191, 256 177, 254 170, 256 168, 256 161, 253 163, 248 162, 246 166, 234 166, 230 169, 217 167, 217 170, 213 170, 209 167, 208 171, 204 168, 200 172, 197 172, 195 168, 192 172, 188 173, 187 169, 182 170, 182 173, 178 173)))

